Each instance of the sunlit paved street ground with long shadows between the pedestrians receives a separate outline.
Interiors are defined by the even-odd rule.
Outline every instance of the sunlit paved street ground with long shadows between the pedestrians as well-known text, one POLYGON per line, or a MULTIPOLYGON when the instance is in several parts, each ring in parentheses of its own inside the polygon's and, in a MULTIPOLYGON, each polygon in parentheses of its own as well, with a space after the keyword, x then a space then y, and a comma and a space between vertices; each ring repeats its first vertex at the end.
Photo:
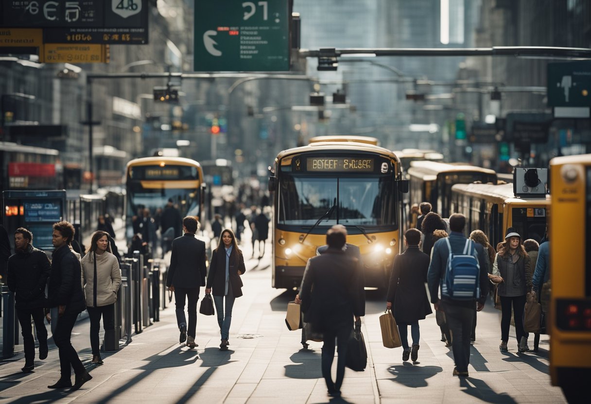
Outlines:
MULTIPOLYGON (((251 256, 245 243, 243 253, 251 256)), ((285 327, 287 304, 294 292, 277 291, 269 283, 270 256, 246 261, 244 295, 232 315, 228 351, 219 350, 219 328, 213 316, 198 314, 199 347, 178 344, 174 306, 129 346, 107 353, 102 366, 90 364, 88 321, 74 327, 72 342, 93 379, 74 393, 47 390, 59 377, 57 350, 38 361, 34 373, 22 374, 18 356, 0 366, 1 402, 11 403, 323 403, 326 386, 320 373, 322 343, 301 349, 300 330, 285 327)), ((402 348, 382 346, 378 317, 384 294, 367 291, 362 332, 368 347, 363 372, 347 369, 342 399, 350 403, 563 403, 548 376, 548 337, 538 353, 517 353, 517 343, 500 353, 500 311, 491 301, 478 314, 476 343, 470 350, 470 377, 452 376, 452 351, 440 341, 435 316, 420 322, 416 363, 401 360, 402 348)), ((174 304, 174 300, 172 302, 174 304)), ((514 330, 511 330, 514 335, 514 330)), ((512 341, 515 341, 512 338, 512 341)))

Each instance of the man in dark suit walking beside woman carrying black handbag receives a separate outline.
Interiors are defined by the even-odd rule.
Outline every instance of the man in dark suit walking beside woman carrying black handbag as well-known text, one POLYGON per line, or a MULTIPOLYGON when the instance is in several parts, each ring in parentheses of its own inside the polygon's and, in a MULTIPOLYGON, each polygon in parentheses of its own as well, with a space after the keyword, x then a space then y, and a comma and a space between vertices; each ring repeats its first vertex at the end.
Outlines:
POLYGON ((187 347, 198 346, 195 343, 197 328, 197 301, 199 288, 205 286, 205 243, 196 239, 195 233, 199 228, 199 221, 193 216, 183 219, 184 236, 173 240, 173 252, 170 258, 170 268, 166 276, 168 290, 174 292, 176 302, 177 324, 180 331, 178 341, 187 341, 187 347), (189 328, 184 314, 185 301, 188 301, 189 328), (189 337, 187 338, 187 334, 189 337))

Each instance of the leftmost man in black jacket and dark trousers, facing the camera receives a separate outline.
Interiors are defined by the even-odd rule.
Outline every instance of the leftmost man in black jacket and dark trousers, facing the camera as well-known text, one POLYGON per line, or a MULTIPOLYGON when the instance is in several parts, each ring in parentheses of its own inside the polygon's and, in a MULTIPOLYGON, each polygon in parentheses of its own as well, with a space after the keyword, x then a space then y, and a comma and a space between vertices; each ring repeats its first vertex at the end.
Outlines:
POLYGON ((22 372, 35 369, 35 341, 31 317, 37 328, 39 359, 47 358, 47 329, 44 320, 45 286, 51 265, 47 255, 33 247, 33 234, 19 227, 14 232, 16 253, 8 259, 8 289, 15 294, 18 322, 21 324, 25 348, 25 366, 22 372))

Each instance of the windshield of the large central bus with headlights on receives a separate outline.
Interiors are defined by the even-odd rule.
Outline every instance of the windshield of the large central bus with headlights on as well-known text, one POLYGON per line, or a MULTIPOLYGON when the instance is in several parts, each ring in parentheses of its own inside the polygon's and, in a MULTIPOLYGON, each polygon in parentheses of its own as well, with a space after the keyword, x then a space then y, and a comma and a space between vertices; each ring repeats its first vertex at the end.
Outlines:
POLYGON ((280 225, 313 226, 335 204, 337 208, 322 220, 322 225, 396 225, 394 185, 390 177, 285 175, 279 191, 277 220, 280 225))

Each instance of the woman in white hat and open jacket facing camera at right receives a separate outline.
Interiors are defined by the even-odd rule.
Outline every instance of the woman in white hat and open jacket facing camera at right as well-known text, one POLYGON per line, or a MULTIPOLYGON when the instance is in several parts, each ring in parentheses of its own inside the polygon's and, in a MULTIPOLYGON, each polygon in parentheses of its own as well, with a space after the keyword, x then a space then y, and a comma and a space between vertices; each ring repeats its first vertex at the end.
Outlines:
POLYGON ((511 326, 511 308, 515 318, 515 334, 519 352, 519 341, 525 335, 523 330, 523 311, 525 308, 525 294, 527 284, 525 274, 530 271, 530 256, 521 245, 521 236, 517 232, 509 232, 505 236, 505 242, 501 243, 499 252, 496 253, 492 266, 491 280, 499 284, 498 295, 501 298, 501 345, 499 350, 507 351, 509 340, 509 327, 511 326))

